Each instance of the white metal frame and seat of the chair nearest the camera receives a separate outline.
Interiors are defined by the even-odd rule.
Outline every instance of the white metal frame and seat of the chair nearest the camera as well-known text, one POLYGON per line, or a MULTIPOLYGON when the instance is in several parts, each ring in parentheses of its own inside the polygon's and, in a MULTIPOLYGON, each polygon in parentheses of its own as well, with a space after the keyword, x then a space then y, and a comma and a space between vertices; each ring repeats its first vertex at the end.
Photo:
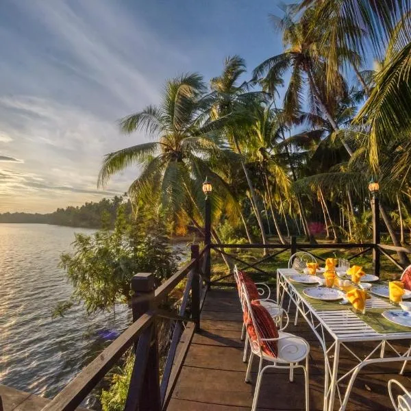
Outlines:
MULTIPOLYGON (((260 358, 260 364, 258 366, 258 377, 256 382, 256 390, 254 391, 253 406, 251 411, 256 411, 258 403, 258 395, 260 393, 260 386, 262 382, 262 375, 268 369, 289 369, 290 370, 290 381, 294 379, 294 370, 302 369, 305 378, 306 387, 306 411, 310 410, 310 398, 309 398, 309 379, 308 379, 308 353, 310 353, 310 345, 303 338, 297 337, 293 334, 288 334, 282 332, 284 327, 279 328, 277 338, 262 338, 261 330, 258 327, 258 323, 253 314, 253 308, 251 307, 251 302, 249 300, 247 288, 242 284, 241 288, 241 299, 242 303, 247 307, 247 319, 251 321, 251 325, 256 332, 256 340, 252 340, 249 336, 249 331, 247 329, 247 336, 250 340, 251 353, 249 357, 249 363, 247 366, 247 373, 245 376, 245 381, 250 381, 251 366, 253 364, 253 359, 255 356, 260 358), (264 342, 277 342, 277 356, 271 356, 266 351, 263 351, 264 342), (262 366, 263 360, 268 361, 270 364, 262 366), (299 362, 306 360, 306 365, 299 364, 299 362)), ((284 313, 285 310, 284 310, 284 313)))

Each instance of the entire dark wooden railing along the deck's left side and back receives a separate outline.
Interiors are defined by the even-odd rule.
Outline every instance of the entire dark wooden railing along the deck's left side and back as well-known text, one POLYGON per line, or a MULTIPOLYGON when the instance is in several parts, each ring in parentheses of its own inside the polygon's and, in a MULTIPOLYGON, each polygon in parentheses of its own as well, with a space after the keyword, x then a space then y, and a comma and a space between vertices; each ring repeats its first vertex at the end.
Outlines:
POLYGON ((286 251, 290 256, 297 251, 307 251, 316 259, 323 257, 313 253, 316 249, 356 249, 360 251, 349 260, 353 260, 364 253, 372 251, 374 273, 379 275, 380 253, 386 256, 393 264, 403 268, 388 251, 403 251, 411 254, 411 249, 393 247, 377 243, 332 243, 308 244, 297 243, 295 237, 290 244, 208 244, 199 251, 198 245, 191 246, 191 258, 177 273, 172 275, 161 286, 154 290, 154 279, 151 273, 139 273, 132 279, 133 323, 119 338, 114 340, 102 353, 99 354, 86 368, 84 368, 42 411, 71 411, 87 397, 93 388, 103 379, 105 374, 112 369, 114 364, 123 354, 133 347, 135 354, 132 377, 129 384, 126 411, 160 411, 165 410, 171 393, 177 382, 182 364, 186 358, 188 347, 195 332, 201 327, 200 312, 206 292, 210 286, 234 286, 234 282, 223 282, 232 276, 232 273, 221 277, 210 278, 211 251, 225 256, 234 264, 241 264, 240 269, 252 269, 260 274, 272 276, 259 267, 269 260, 286 251), (226 249, 265 249, 271 251, 257 261, 246 262, 226 249), (178 314, 162 310, 160 305, 164 302, 176 286, 186 279, 184 295, 181 300, 178 314), (190 305, 190 315, 187 308, 190 305), (156 319, 167 318, 174 321, 173 336, 169 353, 162 370, 160 379, 158 358, 158 336, 156 319), (180 341, 182 341, 181 344, 180 341), (177 353, 177 347, 179 351, 177 353))

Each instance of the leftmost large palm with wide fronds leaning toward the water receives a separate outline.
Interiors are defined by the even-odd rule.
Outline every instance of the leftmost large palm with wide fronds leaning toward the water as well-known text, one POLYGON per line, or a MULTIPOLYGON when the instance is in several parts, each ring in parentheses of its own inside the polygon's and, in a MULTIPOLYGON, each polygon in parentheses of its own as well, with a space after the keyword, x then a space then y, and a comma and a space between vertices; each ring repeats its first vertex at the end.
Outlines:
MULTIPOLYGON (((211 158, 225 161, 218 144, 219 134, 215 132, 219 121, 207 121, 202 116, 209 108, 205 92, 206 84, 200 75, 182 75, 166 83, 158 107, 149 105, 122 119, 123 132, 142 130, 155 141, 105 155, 99 186, 127 167, 140 165, 140 175, 129 187, 129 197, 170 212, 173 218, 186 214, 200 228, 203 195, 199 182, 208 176, 216 183, 212 201, 214 212, 218 212, 223 185, 209 162, 211 158)), ((213 236, 218 241, 215 232, 213 236)))

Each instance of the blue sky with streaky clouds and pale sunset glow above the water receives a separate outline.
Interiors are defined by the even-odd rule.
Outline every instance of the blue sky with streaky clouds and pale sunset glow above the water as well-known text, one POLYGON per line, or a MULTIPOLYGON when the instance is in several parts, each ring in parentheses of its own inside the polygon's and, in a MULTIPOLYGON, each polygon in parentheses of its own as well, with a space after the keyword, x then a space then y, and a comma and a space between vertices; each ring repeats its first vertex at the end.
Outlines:
POLYGON ((278 0, 1 0, 0 212, 50 212, 125 192, 97 189, 103 155, 149 140, 121 117, 156 104, 166 79, 249 71, 282 50, 278 0))

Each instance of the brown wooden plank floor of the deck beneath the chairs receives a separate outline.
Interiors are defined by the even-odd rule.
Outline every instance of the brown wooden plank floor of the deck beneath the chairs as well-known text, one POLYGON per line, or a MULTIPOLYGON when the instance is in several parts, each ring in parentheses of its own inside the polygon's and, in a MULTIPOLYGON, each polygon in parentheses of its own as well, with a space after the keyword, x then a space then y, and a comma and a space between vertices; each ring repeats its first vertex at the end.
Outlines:
MULTIPOLYGON (((210 290, 201 313, 201 332, 192 340, 168 411, 244 411, 251 408, 258 361, 254 360, 251 384, 246 384, 247 364, 242 362, 241 327, 242 314, 236 290, 210 290)), ((318 340, 303 319, 297 327, 289 325, 287 332, 306 338, 310 343, 310 410, 323 410, 324 360, 318 340)), ((362 349, 362 345, 356 347, 356 353, 361 355, 362 349)), ((340 366, 341 369, 351 368, 349 356, 342 355, 340 366)), ((411 389, 411 364, 403 377, 398 375, 400 367, 399 362, 365 367, 356 379, 347 410, 392 410, 388 380, 398 379, 411 389)), ((304 407, 302 373, 296 373, 295 382, 289 382, 287 371, 264 373, 258 410, 304 410, 304 407)))

